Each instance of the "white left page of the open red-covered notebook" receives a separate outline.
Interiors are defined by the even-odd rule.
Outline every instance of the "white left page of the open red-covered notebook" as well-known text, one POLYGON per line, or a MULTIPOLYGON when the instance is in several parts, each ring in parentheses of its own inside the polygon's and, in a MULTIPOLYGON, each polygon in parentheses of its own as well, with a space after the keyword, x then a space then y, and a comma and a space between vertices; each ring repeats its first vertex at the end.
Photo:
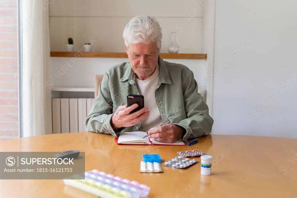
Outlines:
POLYGON ((118 143, 143 142, 143 143, 150 144, 148 137, 143 138, 143 136, 145 136, 145 135, 146 135, 146 132, 143 132, 143 131, 123 132, 119 135, 118 143))

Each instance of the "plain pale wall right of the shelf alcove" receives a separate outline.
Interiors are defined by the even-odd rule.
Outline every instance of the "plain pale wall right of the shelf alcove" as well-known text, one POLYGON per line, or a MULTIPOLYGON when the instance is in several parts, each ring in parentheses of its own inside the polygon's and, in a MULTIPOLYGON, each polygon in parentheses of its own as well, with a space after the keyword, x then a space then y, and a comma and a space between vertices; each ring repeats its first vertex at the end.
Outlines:
POLYGON ((296 7, 294 0, 216 1, 213 134, 297 138, 296 7))

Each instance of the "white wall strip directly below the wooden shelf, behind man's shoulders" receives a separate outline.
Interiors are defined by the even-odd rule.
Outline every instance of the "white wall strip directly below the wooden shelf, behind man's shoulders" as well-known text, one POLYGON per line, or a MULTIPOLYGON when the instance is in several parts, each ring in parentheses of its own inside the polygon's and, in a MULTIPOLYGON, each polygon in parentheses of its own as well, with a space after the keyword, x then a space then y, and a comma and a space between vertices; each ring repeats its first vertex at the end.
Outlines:
MULTIPOLYGON (((74 59, 72 59, 74 60, 74 59)), ((164 59, 181 63, 194 72, 198 84, 206 78, 206 60, 164 59)), ((79 58, 72 62, 71 58, 51 57, 51 73, 49 80, 53 86, 94 87, 95 74, 104 74, 110 67, 129 61, 125 58, 79 58), (68 64, 68 65, 67 65, 68 64)))

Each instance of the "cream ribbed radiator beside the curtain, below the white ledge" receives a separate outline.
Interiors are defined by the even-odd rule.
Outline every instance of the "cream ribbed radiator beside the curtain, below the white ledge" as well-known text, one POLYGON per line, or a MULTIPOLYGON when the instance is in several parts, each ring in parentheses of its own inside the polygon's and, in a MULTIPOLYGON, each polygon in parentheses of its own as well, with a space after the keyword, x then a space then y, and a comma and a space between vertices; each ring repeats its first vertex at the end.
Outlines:
POLYGON ((52 98, 53 133, 84 132, 94 98, 52 98))

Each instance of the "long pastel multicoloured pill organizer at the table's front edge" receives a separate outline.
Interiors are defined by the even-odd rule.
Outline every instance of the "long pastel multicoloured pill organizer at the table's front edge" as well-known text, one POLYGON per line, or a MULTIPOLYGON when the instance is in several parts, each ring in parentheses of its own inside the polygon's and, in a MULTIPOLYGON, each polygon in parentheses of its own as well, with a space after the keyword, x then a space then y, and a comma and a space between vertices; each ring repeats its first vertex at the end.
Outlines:
POLYGON ((147 197, 150 187, 96 169, 64 179, 64 184, 102 198, 147 197), (85 179, 81 179, 85 178, 85 179))

